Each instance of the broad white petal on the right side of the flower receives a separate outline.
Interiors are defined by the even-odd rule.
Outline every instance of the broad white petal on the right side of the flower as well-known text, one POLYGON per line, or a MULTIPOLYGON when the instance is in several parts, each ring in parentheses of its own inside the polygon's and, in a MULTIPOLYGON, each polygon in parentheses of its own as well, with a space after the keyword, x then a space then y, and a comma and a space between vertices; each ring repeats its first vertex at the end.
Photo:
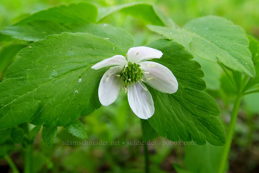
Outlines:
POLYGON ((139 65, 141 65, 140 68, 145 72, 149 72, 149 74, 145 74, 144 80, 153 78, 146 82, 149 86, 163 93, 172 94, 177 91, 178 82, 170 69, 152 61, 144 61, 139 63, 139 65))

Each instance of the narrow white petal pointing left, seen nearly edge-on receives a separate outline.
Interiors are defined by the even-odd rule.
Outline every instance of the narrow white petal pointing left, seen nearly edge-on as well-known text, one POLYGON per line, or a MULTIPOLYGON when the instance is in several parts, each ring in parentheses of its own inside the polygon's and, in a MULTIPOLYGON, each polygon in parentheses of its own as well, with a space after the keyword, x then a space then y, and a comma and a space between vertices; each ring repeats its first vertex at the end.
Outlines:
POLYGON ((111 58, 104 59, 92 66, 92 69, 100 69, 102 67, 108 67, 111 65, 126 65, 127 60, 122 55, 115 55, 111 58))

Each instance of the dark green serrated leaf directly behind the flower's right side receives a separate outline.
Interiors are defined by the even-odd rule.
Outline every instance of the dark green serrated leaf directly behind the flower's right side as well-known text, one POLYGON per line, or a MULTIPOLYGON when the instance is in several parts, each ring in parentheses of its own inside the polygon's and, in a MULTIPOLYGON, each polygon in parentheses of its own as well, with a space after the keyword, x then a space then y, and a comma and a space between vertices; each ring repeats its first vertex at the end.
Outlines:
POLYGON ((213 145, 225 143, 225 131, 216 116, 220 110, 216 101, 204 91, 203 72, 184 46, 170 40, 157 40, 147 45, 163 52, 153 61, 169 68, 178 81, 178 91, 166 94, 148 86, 155 113, 148 119, 157 133, 171 141, 208 141, 213 145))

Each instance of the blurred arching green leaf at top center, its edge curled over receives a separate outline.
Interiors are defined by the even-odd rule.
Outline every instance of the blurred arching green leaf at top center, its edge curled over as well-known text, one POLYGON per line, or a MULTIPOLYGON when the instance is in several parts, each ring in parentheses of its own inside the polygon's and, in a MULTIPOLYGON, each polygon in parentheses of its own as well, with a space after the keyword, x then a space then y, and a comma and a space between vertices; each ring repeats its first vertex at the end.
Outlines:
POLYGON ((122 5, 99 8, 97 21, 100 22, 102 19, 117 11, 130 14, 136 18, 142 18, 153 25, 166 25, 168 27, 175 26, 173 20, 167 17, 159 9, 159 7, 153 4, 142 2, 126 3, 122 5))

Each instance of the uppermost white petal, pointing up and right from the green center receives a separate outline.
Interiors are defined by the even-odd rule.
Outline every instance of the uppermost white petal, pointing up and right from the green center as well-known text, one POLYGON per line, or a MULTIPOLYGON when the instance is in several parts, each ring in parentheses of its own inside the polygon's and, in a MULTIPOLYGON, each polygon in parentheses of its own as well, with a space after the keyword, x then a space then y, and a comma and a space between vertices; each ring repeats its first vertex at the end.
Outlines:
POLYGON ((139 63, 140 61, 150 60, 152 58, 161 58, 163 53, 160 50, 140 46, 130 48, 127 53, 127 60, 132 63, 139 63))

